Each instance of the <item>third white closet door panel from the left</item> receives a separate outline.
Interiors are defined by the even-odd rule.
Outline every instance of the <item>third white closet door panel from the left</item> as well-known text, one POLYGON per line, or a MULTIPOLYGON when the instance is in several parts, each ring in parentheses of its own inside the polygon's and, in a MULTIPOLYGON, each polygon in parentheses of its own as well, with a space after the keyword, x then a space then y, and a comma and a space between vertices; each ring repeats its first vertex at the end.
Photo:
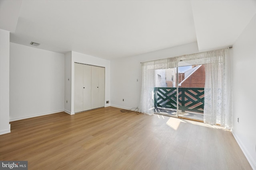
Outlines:
POLYGON ((92 66, 92 109, 98 108, 98 75, 99 69, 97 66, 92 66))

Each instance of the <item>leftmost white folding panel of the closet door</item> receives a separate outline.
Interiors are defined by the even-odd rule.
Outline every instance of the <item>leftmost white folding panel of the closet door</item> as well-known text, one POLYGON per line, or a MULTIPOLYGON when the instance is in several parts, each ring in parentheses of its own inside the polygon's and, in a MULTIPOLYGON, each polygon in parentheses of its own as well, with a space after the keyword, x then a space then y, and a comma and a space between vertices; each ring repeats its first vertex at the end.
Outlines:
POLYGON ((83 64, 75 63, 74 75, 74 111, 80 112, 83 110, 83 64))

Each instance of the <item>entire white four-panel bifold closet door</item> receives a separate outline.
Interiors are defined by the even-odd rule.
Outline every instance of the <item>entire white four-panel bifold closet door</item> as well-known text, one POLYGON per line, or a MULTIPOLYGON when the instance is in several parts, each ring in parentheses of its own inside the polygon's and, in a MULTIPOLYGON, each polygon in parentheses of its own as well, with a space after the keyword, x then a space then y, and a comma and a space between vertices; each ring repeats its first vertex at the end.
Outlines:
POLYGON ((75 63, 74 112, 105 106, 105 68, 75 63))

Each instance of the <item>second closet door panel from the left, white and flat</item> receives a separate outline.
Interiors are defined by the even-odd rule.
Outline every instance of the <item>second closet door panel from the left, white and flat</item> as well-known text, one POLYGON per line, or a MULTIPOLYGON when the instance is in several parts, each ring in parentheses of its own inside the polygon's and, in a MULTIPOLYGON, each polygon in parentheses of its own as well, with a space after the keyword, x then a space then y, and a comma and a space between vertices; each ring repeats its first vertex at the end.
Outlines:
POLYGON ((92 66, 82 64, 84 66, 84 86, 83 86, 83 111, 90 110, 91 107, 91 96, 92 96, 92 66))

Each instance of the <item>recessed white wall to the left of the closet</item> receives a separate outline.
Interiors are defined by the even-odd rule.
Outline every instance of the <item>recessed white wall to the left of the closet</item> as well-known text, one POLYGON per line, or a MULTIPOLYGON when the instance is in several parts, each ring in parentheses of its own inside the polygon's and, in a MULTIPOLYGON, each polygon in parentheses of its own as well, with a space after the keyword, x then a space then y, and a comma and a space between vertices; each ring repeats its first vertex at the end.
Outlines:
POLYGON ((10 43, 10 121, 64 111, 64 54, 10 43))

